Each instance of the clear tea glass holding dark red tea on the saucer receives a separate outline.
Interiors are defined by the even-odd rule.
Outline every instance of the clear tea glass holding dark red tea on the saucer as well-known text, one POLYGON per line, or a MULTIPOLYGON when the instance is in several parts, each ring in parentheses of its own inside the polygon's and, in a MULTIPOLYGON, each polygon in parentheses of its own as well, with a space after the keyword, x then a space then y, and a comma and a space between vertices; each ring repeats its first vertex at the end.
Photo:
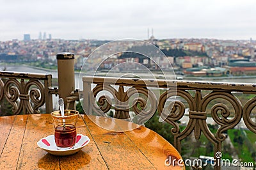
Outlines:
POLYGON ((60 111, 51 112, 54 123, 54 139, 58 150, 74 148, 76 144, 76 122, 79 112, 65 110, 64 117, 60 111))

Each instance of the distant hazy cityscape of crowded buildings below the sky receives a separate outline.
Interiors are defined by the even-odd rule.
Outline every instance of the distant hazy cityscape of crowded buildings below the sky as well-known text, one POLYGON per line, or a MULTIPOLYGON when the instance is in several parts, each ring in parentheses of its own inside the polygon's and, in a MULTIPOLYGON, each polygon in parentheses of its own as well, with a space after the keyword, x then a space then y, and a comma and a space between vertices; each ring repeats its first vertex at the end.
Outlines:
MULTIPOLYGON (((24 40, 14 39, 0 42, 0 61, 2 63, 28 63, 28 65, 36 63, 35 66, 55 68, 58 52, 73 52, 76 56, 75 68, 79 70, 93 50, 109 41, 54 39, 51 34, 41 32, 37 39, 31 39, 29 34, 25 34, 24 40)), ((160 63, 156 65, 138 55, 115 54, 115 62, 113 59, 104 61, 100 69, 109 69, 116 63, 135 61, 147 66, 150 70, 168 69, 168 63, 171 63, 175 72, 191 77, 256 75, 256 41, 252 38, 250 40, 205 38, 158 40, 151 35, 145 41, 156 45, 167 58, 152 56, 154 61, 160 63)), ((134 46, 143 45, 145 44, 134 44, 134 46)), ((127 47, 130 50, 132 48, 127 47)))

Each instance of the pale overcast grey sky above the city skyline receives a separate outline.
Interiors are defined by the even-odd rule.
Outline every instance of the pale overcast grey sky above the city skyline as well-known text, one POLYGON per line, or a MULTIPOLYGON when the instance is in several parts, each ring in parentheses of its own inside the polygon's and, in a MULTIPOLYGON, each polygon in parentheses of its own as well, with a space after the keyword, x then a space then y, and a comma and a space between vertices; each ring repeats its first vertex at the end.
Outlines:
POLYGON ((52 38, 256 40, 255 0, 0 0, 0 41, 52 38))

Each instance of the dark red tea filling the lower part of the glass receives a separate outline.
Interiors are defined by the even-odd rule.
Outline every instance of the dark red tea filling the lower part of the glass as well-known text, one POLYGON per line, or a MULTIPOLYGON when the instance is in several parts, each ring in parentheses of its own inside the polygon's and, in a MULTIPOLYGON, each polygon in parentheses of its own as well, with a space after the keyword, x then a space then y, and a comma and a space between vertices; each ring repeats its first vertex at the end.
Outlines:
POLYGON ((57 147, 72 148, 76 144, 76 126, 58 125, 54 131, 54 138, 57 147))

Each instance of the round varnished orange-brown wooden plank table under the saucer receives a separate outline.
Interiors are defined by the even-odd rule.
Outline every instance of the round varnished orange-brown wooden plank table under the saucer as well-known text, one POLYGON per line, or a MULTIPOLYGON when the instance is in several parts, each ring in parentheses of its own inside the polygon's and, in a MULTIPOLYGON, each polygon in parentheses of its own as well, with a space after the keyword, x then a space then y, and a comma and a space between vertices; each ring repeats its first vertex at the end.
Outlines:
POLYGON ((81 151, 66 157, 54 156, 37 146, 53 134, 50 114, 27 114, 0 117, 0 169, 184 169, 166 166, 166 158, 179 159, 180 154, 156 132, 137 127, 127 132, 112 128, 138 126, 124 120, 80 115, 77 133, 88 135, 90 143, 81 151))

